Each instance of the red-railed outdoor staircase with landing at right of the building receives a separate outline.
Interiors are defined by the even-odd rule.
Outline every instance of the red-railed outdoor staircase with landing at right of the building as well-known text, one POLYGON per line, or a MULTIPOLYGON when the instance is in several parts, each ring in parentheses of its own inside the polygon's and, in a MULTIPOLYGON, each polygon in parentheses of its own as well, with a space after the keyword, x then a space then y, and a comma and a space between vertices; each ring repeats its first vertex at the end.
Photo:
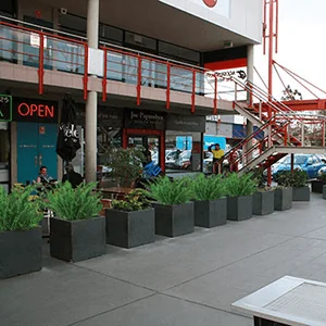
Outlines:
MULTIPOLYGON (((236 155, 238 158, 231 161, 240 163, 238 164, 240 173, 255 166, 267 168, 289 153, 325 153, 325 135, 322 135, 321 147, 305 145, 306 116, 304 114, 292 111, 250 82, 243 83, 235 77, 230 77, 229 82, 235 84, 234 110, 259 127, 225 155, 225 159, 230 162, 235 156, 234 152, 241 150, 242 154, 236 155), (238 100, 239 92, 243 93, 243 91, 247 100, 238 100), (293 125, 297 126, 297 131, 300 128, 301 137, 291 131, 293 125), (264 137, 256 140, 256 136, 261 133, 264 133, 264 137)), ((324 123, 325 118, 316 121, 316 124, 324 123)), ((323 128, 321 133, 324 133, 323 128)))

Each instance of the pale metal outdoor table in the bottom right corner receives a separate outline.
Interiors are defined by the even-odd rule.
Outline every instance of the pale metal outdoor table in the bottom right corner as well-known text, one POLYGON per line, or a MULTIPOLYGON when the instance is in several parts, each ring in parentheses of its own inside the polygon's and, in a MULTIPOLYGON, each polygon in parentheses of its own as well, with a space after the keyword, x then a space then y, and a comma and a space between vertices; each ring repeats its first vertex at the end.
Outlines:
POLYGON ((325 326, 326 284, 285 276, 231 306, 254 326, 325 326))

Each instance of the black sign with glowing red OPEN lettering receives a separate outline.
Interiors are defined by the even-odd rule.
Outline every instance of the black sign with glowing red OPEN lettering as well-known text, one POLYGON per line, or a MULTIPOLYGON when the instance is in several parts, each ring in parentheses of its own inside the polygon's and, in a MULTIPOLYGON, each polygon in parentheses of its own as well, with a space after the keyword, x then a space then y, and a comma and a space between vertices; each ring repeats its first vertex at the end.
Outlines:
POLYGON ((58 123, 58 102, 14 99, 13 121, 58 123))

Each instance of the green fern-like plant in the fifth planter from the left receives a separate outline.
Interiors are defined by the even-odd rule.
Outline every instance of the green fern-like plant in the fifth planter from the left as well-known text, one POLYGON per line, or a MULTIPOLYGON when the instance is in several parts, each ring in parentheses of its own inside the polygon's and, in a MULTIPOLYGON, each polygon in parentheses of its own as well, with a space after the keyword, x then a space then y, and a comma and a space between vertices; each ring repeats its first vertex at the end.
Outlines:
POLYGON ((212 175, 205 177, 200 174, 191 181, 193 199, 201 200, 217 200, 225 197, 225 179, 222 175, 212 175))

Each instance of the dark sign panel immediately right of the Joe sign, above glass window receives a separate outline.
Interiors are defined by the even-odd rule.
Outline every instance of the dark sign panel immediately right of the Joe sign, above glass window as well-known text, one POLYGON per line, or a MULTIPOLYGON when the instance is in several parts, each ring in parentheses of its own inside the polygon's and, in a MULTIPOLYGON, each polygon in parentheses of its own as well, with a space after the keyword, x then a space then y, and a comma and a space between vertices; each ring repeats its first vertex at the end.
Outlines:
POLYGON ((204 133, 205 117, 170 114, 166 118, 166 130, 204 133))

